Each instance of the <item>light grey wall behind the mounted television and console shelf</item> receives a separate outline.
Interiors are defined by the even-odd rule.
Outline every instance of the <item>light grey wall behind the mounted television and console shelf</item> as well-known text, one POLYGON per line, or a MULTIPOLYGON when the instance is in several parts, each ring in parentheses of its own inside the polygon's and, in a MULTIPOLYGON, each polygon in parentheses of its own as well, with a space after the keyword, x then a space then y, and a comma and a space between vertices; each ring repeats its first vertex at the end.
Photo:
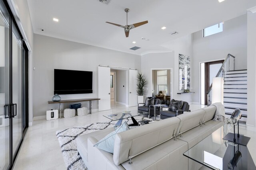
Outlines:
MULTIPOLYGON (((91 45, 75 43, 34 34, 34 116, 46 114, 47 109, 58 108, 58 104, 48 104, 54 94, 54 68, 84 70, 93 72, 93 93, 60 95, 62 100, 79 98, 98 98, 97 66, 109 65, 140 70, 140 56, 104 49, 91 45)), ((83 80, 63 80, 84 82, 83 80)), ((88 102, 87 102, 88 103, 88 102)), ((86 102, 82 103, 87 106, 86 102)), ((64 105, 64 107, 68 107, 64 105)), ((92 109, 98 102, 92 101, 92 109)), ((63 109, 63 108, 62 108, 63 109)))

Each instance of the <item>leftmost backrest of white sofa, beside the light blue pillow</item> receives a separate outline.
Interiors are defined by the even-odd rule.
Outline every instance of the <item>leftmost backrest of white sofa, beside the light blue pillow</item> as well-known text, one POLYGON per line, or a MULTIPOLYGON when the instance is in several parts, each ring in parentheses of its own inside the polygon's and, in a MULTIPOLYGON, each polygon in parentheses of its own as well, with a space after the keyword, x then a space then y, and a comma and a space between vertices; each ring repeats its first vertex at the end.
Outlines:
POLYGON ((172 117, 118 133, 114 145, 114 163, 119 165, 129 156, 136 156, 168 141, 176 133, 179 123, 178 118, 172 117))

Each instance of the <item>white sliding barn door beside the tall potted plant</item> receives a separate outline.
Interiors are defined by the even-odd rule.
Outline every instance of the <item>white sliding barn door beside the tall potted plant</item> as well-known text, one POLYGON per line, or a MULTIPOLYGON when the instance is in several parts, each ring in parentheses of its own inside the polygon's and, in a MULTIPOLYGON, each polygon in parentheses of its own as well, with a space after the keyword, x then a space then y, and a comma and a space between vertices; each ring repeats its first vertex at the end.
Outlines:
POLYGON ((138 95, 136 92, 138 70, 129 70, 129 107, 138 105, 138 95))

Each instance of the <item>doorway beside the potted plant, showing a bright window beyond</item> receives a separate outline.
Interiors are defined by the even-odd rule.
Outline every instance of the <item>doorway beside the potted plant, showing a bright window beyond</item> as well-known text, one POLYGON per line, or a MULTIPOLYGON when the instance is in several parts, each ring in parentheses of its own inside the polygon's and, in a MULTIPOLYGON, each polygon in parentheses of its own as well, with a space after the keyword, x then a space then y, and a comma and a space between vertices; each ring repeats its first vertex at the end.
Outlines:
MULTIPOLYGON (((166 91, 166 96, 173 98, 172 93, 172 68, 152 68, 150 78, 150 92, 152 97, 156 97, 159 91, 166 91)), ((162 102, 166 101, 166 98, 162 102)))

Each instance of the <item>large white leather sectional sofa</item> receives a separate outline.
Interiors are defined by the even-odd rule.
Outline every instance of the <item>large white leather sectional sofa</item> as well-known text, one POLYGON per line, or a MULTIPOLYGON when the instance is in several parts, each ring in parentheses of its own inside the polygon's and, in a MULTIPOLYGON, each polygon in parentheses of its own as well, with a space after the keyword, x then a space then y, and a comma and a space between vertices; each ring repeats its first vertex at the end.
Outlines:
POLYGON ((114 128, 78 137, 77 149, 89 170, 196 169, 183 153, 224 125, 212 120, 215 111, 209 106, 118 133, 113 154, 94 144, 114 128))

